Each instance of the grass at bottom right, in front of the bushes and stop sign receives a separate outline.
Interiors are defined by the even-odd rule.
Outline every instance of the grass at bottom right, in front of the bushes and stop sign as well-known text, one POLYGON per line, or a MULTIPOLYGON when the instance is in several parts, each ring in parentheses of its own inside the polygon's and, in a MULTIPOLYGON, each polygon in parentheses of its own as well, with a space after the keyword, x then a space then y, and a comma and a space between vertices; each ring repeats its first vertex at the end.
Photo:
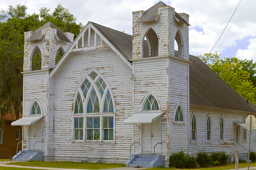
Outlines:
MULTIPOLYGON (((239 168, 240 167, 247 167, 248 163, 239 163, 238 164, 239 168)), ((250 163, 250 166, 256 166, 256 163, 250 163)), ((218 169, 218 170, 223 170, 223 169, 234 169, 235 168, 235 163, 228 163, 225 166, 214 166, 214 167, 209 167, 209 168, 197 168, 196 170, 213 170, 213 169, 218 169)), ((152 170, 174 170, 174 169, 179 169, 179 168, 161 168, 161 167, 153 167, 152 170)), ((186 169, 183 169, 186 170, 186 169)), ((190 169, 192 170, 192 169, 190 169)))

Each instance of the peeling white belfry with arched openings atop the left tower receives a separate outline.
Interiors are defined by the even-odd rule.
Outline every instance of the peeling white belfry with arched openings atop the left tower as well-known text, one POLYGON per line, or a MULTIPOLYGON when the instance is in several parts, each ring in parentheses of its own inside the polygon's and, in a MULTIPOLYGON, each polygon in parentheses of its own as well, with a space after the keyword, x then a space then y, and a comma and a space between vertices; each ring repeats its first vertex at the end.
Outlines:
POLYGON ((63 33, 51 22, 35 32, 25 32, 23 71, 32 71, 32 60, 36 52, 41 57, 41 69, 52 69, 58 52, 64 54, 73 42, 74 34, 63 33))

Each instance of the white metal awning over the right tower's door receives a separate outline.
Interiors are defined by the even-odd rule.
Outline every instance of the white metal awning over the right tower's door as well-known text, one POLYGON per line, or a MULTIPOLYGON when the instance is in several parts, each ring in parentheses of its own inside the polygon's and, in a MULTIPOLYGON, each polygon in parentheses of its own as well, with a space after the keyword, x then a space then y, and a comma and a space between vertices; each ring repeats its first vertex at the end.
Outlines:
POLYGON ((124 124, 141 124, 141 123, 152 123, 158 117, 160 117, 163 112, 138 112, 129 118, 124 120, 124 124))

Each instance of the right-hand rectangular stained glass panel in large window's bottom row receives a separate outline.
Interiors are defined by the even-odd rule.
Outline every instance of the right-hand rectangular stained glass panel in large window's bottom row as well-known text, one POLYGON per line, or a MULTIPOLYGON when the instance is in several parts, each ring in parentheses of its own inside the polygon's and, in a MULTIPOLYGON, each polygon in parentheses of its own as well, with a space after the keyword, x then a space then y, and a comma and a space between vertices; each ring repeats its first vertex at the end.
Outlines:
POLYGON ((103 117, 103 140, 113 140, 113 117, 103 117))

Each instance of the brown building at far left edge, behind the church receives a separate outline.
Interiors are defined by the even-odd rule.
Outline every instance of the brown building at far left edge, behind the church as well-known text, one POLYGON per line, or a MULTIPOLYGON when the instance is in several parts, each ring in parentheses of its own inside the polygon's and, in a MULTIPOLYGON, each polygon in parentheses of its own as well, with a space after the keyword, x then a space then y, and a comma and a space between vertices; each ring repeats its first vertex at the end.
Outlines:
MULTIPOLYGON (((1 114, 0 114, 1 115, 1 114)), ((11 158, 16 154, 17 144, 22 140, 22 126, 11 126, 15 116, 7 114, 3 126, 0 126, 0 158, 11 158)), ((20 118, 22 113, 20 113, 20 118)), ((18 150, 21 150, 22 142, 18 150)))

